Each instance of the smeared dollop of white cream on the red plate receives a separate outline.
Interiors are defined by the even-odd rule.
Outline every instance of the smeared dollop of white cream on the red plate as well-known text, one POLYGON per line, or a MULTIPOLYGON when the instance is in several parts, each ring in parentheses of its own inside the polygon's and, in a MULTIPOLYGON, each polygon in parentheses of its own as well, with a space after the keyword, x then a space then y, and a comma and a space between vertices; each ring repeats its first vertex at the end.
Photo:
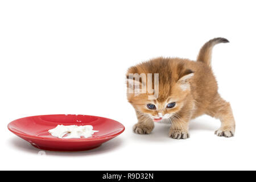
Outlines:
POLYGON ((93 130, 92 125, 84 125, 84 126, 77 126, 77 125, 58 125, 54 129, 48 130, 48 132, 57 138, 88 138, 92 137, 92 135, 97 132, 93 130))

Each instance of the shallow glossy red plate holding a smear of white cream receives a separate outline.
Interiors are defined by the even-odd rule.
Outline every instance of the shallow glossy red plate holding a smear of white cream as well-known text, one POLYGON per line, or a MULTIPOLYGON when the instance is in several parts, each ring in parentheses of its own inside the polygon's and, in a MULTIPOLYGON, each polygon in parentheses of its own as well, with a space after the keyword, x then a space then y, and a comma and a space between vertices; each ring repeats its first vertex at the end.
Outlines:
POLYGON ((102 143, 117 137, 125 127, 112 119, 92 115, 37 115, 16 119, 9 123, 8 129, 32 146, 51 151, 82 151, 99 147, 102 143), (57 125, 92 125, 98 130, 90 138, 61 139, 48 133, 57 125))

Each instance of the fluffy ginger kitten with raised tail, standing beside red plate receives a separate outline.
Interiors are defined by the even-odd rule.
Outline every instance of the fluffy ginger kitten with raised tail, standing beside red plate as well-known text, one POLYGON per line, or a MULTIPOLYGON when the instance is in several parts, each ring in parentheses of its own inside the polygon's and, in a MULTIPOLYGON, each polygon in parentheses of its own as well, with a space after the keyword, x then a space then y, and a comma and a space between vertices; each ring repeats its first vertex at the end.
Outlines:
POLYGON ((218 94, 210 66, 213 46, 228 42, 224 38, 209 40, 200 49, 197 61, 159 57, 129 68, 126 75, 127 100, 133 105, 138 118, 134 132, 150 134, 154 121, 163 122, 167 118, 171 123, 169 136, 186 139, 189 137, 189 121, 208 114, 221 121, 220 129, 215 131, 217 136, 232 137, 235 132, 232 109, 229 102, 218 94), (148 73, 156 77, 145 77, 148 73), (142 92, 146 82, 153 92, 148 85, 142 92))

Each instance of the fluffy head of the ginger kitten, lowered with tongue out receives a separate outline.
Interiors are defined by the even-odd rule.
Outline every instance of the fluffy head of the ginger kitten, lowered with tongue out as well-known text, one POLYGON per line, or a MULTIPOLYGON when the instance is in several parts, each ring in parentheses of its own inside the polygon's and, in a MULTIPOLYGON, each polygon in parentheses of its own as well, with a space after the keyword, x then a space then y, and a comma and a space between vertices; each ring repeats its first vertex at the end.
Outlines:
MULTIPOLYGON (((131 67, 128 73, 159 73, 158 97, 152 97, 154 93, 130 93, 127 92, 128 101, 135 110, 148 115, 154 121, 163 118, 170 118, 185 104, 185 97, 190 92, 190 80, 194 73, 190 69, 183 68, 183 65, 174 65, 166 59, 151 60, 146 63, 131 67)), ((132 80, 127 77, 127 88, 142 88, 142 80, 132 80), (139 80, 139 81, 138 81, 139 80)), ((145 81, 147 82, 147 81, 145 81)), ((154 81, 152 81, 152 89, 154 81)), ((129 90, 129 89, 127 89, 129 90)))

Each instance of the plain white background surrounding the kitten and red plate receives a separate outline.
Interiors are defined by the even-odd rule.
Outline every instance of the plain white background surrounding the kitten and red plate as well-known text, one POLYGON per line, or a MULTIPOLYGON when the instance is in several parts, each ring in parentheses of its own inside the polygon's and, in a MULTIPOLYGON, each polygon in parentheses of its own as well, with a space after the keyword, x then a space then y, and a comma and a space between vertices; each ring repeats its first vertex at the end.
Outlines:
POLYGON ((1 1, 0 169, 256 169, 254 1, 1 1), (150 135, 126 101, 125 73, 152 57, 196 59, 209 39, 221 96, 237 122, 236 137, 220 138, 220 121, 191 121, 191 138, 150 135), (39 150, 7 124, 41 114, 89 114, 115 119, 126 130, 84 152, 39 150))

